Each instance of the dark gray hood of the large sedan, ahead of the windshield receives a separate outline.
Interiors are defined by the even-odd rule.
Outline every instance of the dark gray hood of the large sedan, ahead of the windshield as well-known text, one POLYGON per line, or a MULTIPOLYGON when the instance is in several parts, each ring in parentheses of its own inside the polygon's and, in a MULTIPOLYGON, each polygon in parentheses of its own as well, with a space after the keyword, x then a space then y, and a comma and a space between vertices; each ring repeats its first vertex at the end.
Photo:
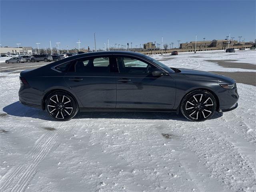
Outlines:
POLYGON ((212 73, 212 72, 198 71, 198 70, 185 69, 185 68, 178 68, 178 70, 180 70, 180 74, 184 74, 184 76, 191 79, 216 80, 216 81, 226 82, 230 84, 233 84, 236 82, 232 78, 226 77, 224 75, 212 73))

